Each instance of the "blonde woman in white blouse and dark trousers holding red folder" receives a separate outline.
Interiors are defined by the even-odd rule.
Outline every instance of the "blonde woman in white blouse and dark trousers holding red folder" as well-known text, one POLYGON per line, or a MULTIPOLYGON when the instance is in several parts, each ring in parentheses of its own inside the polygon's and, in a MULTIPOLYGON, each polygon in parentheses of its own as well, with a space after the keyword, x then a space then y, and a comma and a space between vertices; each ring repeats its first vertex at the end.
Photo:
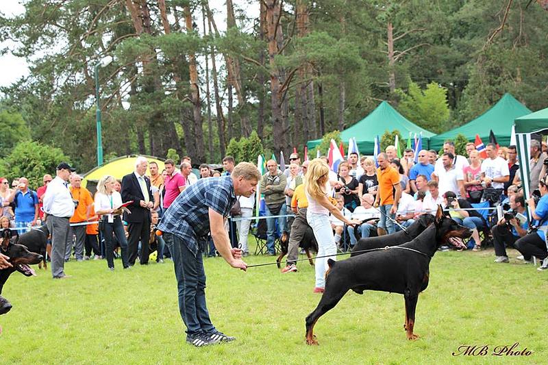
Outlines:
POLYGON ((101 215, 101 233, 105 238, 105 251, 108 268, 114 271, 114 240, 112 234, 120 243, 122 249, 123 268, 129 267, 127 255, 127 238, 125 238, 124 225, 120 218, 122 197, 116 189, 116 179, 110 175, 103 176, 97 184, 95 193, 95 214, 101 215))

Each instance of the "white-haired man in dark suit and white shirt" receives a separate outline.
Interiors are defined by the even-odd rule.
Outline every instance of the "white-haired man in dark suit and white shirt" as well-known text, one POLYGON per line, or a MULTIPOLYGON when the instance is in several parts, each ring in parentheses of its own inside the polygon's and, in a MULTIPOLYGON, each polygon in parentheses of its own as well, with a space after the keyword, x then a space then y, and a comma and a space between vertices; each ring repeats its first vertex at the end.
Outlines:
POLYGON ((138 255, 138 244, 141 242, 140 264, 149 264, 149 235, 151 215, 154 205, 150 179, 145 176, 149 162, 139 156, 135 161, 134 173, 125 175, 122 179, 122 200, 133 201, 127 208, 132 214, 124 213, 127 222, 127 248, 129 265, 133 266, 138 255))

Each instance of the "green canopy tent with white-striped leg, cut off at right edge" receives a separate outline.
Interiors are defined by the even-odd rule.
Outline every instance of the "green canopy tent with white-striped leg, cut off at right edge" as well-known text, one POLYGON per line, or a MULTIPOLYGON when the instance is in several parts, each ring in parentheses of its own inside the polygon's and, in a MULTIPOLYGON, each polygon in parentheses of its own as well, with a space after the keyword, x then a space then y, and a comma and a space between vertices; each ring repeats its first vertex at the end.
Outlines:
POLYGON ((514 121, 516 141, 520 161, 521 182, 525 197, 530 197, 530 143, 531 134, 547 134, 548 132, 548 108, 538 110, 531 114, 516 118, 514 121))

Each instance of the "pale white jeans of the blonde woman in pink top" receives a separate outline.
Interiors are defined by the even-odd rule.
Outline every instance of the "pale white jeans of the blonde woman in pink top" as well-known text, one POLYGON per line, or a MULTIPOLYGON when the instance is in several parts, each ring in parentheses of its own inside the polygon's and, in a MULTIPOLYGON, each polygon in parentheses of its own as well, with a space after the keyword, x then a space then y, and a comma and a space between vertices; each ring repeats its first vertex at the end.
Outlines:
MULTIPOLYGON (((306 212, 308 225, 314 231, 314 237, 318 242, 318 256, 335 255, 337 247, 333 236, 333 229, 326 214, 306 212)), ((316 288, 325 287, 325 271, 327 271, 327 259, 336 260, 336 256, 323 257, 316 260, 316 288)))

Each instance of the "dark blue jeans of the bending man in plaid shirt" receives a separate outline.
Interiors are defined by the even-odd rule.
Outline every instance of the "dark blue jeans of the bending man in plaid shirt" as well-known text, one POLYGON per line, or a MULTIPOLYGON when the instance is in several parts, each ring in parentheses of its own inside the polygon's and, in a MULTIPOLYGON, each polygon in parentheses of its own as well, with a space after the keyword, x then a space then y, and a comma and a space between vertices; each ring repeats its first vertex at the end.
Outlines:
POLYGON ((164 233, 164 240, 173 257, 179 291, 179 312, 186 325, 187 336, 216 331, 206 305, 206 272, 203 270, 201 248, 194 255, 182 238, 164 233))

